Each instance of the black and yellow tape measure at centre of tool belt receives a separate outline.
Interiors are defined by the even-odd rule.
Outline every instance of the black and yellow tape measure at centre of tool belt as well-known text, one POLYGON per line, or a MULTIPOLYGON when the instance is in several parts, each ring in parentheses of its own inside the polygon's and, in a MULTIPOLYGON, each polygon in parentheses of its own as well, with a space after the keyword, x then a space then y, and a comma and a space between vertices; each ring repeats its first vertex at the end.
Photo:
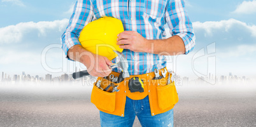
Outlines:
POLYGON ((134 93, 136 91, 139 91, 140 93, 144 92, 143 80, 139 77, 132 77, 131 79, 129 79, 128 86, 131 93, 134 93))

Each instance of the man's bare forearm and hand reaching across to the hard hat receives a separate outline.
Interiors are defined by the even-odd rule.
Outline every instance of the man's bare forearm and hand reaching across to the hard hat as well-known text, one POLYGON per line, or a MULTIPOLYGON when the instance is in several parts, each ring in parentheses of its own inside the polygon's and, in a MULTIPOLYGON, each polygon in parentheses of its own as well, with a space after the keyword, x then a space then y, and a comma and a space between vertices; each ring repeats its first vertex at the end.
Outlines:
POLYGON ((180 36, 148 40, 136 31, 124 31, 118 34, 117 44, 120 45, 120 48, 135 52, 160 55, 179 55, 185 53, 185 44, 180 36))

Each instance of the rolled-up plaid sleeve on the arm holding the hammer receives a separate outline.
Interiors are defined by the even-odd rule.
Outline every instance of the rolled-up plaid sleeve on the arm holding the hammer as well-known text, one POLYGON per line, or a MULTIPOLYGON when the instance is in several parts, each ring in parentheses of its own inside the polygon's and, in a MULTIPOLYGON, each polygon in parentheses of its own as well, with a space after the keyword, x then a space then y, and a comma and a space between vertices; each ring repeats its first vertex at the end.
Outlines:
POLYGON ((68 50, 76 44, 80 44, 78 37, 83 27, 92 21, 94 13, 90 0, 78 0, 74 6, 73 14, 69 20, 68 27, 62 34, 62 50, 68 58, 68 50))

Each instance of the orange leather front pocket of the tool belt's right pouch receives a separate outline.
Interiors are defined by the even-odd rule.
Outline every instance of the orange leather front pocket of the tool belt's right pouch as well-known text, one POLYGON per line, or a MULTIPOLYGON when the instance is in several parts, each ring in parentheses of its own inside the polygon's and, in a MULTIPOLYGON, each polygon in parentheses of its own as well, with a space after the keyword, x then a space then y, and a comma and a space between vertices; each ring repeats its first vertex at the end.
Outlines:
POLYGON ((174 81, 166 86, 157 87, 157 98, 161 110, 175 105, 178 102, 178 93, 174 81))

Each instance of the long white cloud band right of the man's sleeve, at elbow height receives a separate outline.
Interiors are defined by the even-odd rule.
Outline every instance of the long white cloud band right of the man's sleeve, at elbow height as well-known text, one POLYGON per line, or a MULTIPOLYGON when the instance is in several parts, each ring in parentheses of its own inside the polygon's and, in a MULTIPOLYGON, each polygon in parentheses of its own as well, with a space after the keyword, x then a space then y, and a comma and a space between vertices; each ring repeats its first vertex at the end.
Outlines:
POLYGON ((238 32, 232 31, 233 29, 236 29, 238 27, 241 27, 243 30, 250 32, 250 36, 256 37, 256 25, 248 25, 245 22, 241 22, 232 18, 229 20, 221 20, 219 22, 194 22, 193 27, 195 30, 203 30, 204 37, 216 36, 216 32, 225 32, 227 34, 232 34, 232 32, 238 32))

